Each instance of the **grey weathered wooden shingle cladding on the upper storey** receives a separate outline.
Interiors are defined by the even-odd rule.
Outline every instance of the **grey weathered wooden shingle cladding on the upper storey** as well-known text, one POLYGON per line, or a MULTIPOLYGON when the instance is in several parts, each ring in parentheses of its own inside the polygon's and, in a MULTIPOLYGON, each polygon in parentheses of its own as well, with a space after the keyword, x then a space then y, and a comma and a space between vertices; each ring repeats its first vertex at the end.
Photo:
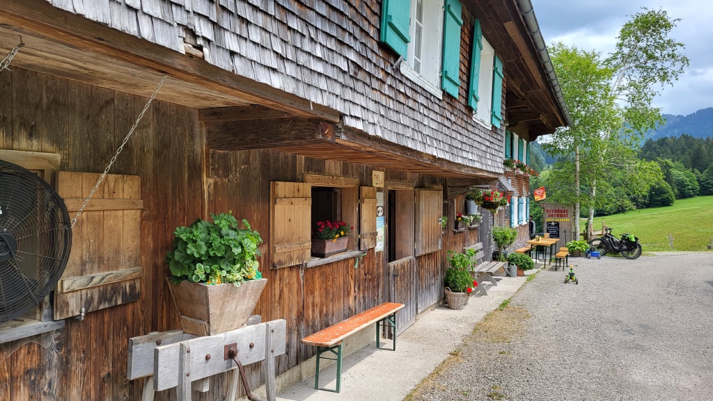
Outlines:
POLYGON ((396 54, 379 43, 378 0, 51 3, 180 53, 195 35, 207 62, 339 110, 345 125, 463 165, 503 171, 503 131, 473 123, 466 104, 474 17, 465 9, 461 93, 441 100, 394 67, 396 54))

